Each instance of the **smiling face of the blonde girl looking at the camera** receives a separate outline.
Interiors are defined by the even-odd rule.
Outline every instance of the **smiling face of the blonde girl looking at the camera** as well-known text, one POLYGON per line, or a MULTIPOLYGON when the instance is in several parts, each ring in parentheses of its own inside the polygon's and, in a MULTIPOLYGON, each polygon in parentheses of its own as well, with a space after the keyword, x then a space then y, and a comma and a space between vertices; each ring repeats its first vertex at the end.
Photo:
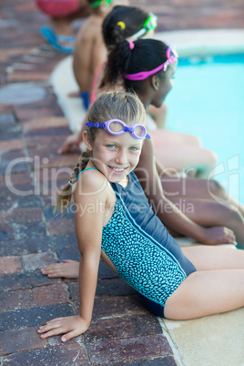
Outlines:
POLYGON ((109 181, 122 182, 137 167, 142 145, 142 139, 128 132, 113 136, 99 128, 92 144, 92 162, 109 181))

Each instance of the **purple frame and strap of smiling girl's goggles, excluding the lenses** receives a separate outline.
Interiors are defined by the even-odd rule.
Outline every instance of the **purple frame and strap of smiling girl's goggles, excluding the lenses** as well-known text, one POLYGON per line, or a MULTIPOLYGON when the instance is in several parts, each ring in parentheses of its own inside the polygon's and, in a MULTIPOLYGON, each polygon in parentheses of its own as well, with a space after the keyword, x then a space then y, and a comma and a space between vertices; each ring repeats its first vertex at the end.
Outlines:
POLYGON ((130 127, 127 127, 127 125, 125 124, 125 122, 123 122, 121 119, 109 119, 107 122, 105 123, 92 123, 92 122, 87 122, 86 123, 87 127, 99 127, 99 128, 104 128, 106 130, 106 132, 109 135, 114 135, 114 136, 119 136, 119 135, 123 135, 125 132, 129 132, 130 135, 134 138, 137 139, 142 139, 142 138, 151 138, 149 135, 147 135, 147 128, 139 123, 134 123, 132 125, 130 125, 130 127), (117 122, 120 123, 123 126, 123 129, 121 131, 113 131, 110 128, 110 125, 112 122, 117 122), (135 132, 135 129, 137 127, 140 127, 142 130, 142 135, 138 136, 135 132))

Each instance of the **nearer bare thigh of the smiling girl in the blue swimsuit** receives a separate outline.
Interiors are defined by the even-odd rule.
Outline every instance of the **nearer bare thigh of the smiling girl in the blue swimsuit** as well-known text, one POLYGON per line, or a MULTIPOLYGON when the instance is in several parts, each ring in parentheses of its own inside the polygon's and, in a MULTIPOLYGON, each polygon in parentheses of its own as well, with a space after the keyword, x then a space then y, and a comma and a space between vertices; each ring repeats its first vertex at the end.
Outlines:
POLYGON ((244 306, 244 269, 191 273, 165 304, 165 317, 188 320, 244 306))

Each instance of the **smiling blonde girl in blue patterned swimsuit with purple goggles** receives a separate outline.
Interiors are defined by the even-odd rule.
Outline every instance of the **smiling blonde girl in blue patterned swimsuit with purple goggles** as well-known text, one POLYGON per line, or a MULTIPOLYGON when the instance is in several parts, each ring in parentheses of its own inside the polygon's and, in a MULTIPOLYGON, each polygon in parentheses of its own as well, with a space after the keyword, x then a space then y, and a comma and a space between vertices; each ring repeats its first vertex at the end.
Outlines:
POLYGON ((88 329, 101 254, 168 319, 188 320, 242 307, 244 251, 206 246, 181 250, 148 205, 133 173, 143 143, 150 139, 139 99, 105 92, 90 107, 88 120, 88 154, 79 160, 57 202, 57 208, 66 209, 70 186, 76 184, 80 313, 48 321, 37 330, 41 338, 63 333, 61 340, 67 341, 88 329))

